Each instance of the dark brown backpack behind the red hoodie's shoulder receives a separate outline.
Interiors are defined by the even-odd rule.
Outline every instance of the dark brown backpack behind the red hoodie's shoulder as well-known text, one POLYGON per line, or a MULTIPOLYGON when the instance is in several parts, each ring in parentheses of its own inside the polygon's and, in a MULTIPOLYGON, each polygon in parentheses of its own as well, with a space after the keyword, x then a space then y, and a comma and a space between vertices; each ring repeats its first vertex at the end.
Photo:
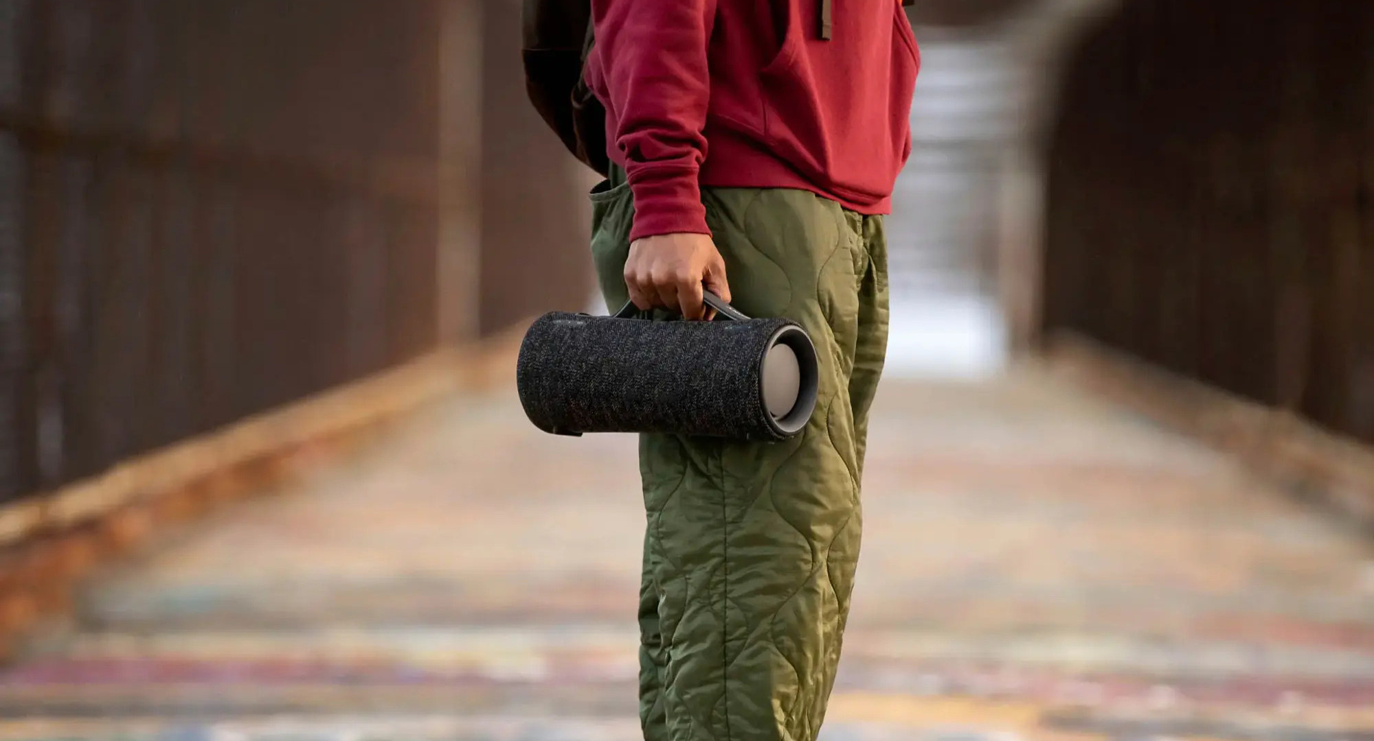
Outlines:
POLYGON ((592 48, 591 0, 525 0, 521 21, 530 103, 573 156, 606 177, 606 108, 583 80, 592 48))

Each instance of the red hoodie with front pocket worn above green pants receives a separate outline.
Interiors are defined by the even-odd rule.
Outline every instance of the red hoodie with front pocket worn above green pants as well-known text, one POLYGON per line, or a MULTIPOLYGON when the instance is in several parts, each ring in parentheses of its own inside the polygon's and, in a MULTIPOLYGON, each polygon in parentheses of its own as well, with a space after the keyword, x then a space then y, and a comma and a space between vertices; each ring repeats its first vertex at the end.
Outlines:
POLYGON ((698 185, 888 213, 921 69, 899 0, 592 0, 592 16, 587 82, 635 195, 631 239, 710 233, 698 185))

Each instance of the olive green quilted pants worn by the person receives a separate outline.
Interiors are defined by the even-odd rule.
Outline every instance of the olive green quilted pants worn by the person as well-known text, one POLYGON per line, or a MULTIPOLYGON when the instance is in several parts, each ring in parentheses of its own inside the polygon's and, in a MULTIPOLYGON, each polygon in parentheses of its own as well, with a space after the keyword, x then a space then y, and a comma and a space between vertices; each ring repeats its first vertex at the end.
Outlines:
MULTIPOLYGON (((882 217, 793 189, 708 188, 702 200, 732 305, 805 327, 820 394, 811 424, 782 443, 640 436, 640 719, 647 741, 812 741, 849 613, 888 344, 882 217)), ((616 310, 633 215, 621 173, 594 189, 592 210, 616 310)))

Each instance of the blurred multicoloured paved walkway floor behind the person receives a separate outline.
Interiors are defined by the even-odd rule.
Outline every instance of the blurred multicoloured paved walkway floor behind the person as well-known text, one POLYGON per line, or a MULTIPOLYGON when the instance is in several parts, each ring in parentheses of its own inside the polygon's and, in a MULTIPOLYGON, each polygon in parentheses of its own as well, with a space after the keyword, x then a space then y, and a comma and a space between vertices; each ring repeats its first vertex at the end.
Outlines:
MULTIPOLYGON (((1035 372, 878 409, 826 741, 1374 740, 1370 542, 1035 372)), ((642 524, 633 439, 448 402, 102 579, 0 741, 633 741, 642 524)))

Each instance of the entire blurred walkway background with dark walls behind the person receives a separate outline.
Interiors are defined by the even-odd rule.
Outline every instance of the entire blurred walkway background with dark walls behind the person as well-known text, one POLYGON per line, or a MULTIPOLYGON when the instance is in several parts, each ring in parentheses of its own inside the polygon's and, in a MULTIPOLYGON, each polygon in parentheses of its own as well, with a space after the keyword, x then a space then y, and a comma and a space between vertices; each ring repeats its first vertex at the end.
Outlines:
MULTIPOLYGON (((0 0, 0 741, 639 738, 515 0, 0 0)), ((823 738, 1374 738, 1374 4, 918 0, 823 738)))

